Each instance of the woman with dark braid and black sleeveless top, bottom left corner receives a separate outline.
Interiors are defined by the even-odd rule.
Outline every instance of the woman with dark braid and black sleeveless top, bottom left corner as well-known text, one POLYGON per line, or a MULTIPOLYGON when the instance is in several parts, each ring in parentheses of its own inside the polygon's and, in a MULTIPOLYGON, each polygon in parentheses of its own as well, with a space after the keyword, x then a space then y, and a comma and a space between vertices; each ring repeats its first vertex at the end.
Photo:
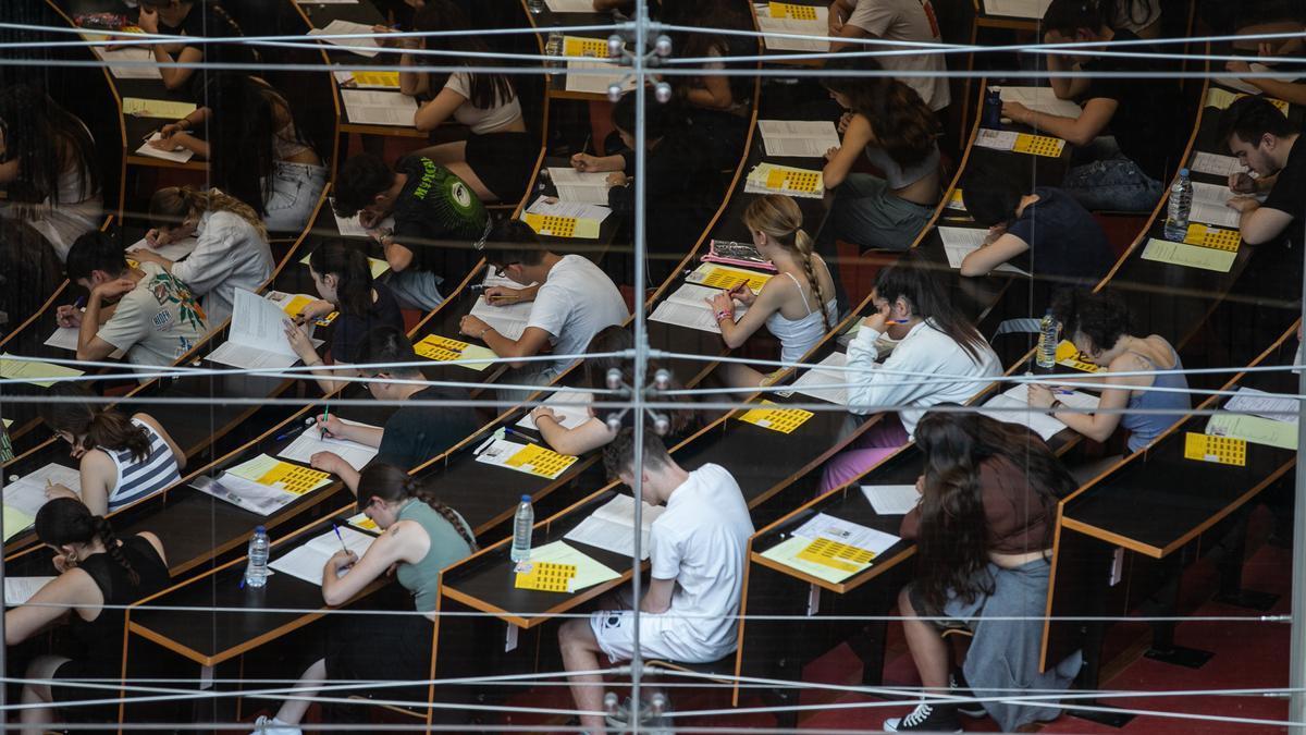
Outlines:
MULTIPOLYGON (((26 604, 5 612, 5 645, 31 638, 57 621, 68 621, 69 650, 37 657, 27 667, 22 689, 25 732, 47 730, 60 702, 102 700, 103 689, 84 689, 77 680, 118 680, 123 668, 124 609, 168 583, 163 544, 154 534, 119 540, 112 527, 74 498, 56 498, 37 513, 37 536, 55 551, 59 577, 26 604), (112 607, 111 607, 112 606, 112 607), (61 684, 60 681, 69 681, 61 684)), ((118 705, 59 708, 67 721, 112 722, 118 705)))

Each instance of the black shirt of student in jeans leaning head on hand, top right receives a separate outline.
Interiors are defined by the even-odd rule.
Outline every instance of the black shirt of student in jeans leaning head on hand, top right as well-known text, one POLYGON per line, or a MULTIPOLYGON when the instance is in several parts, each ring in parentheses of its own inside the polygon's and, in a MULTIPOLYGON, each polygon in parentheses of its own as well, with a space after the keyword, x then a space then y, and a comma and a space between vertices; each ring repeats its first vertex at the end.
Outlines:
MULTIPOLYGON (((1127 30, 1115 31, 1111 39, 1115 42, 1138 41, 1139 37, 1127 30)), ((1155 54, 1152 46, 1121 46, 1113 51, 1138 51, 1139 54, 1155 54)), ((1153 72, 1162 73, 1166 69, 1151 59, 1134 59, 1124 56, 1100 56, 1084 64, 1084 71, 1093 72, 1153 72)), ((1114 99, 1118 106, 1107 131, 1115 136, 1124 156, 1139 165, 1148 177, 1165 182, 1166 162, 1177 158, 1179 149, 1187 139, 1187 128, 1181 129, 1187 122, 1182 115, 1175 115, 1182 110, 1179 88, 1173 78, 1119 78, 1094 76, 1089 81, 1084 99, 1106 98, 1114 99)))

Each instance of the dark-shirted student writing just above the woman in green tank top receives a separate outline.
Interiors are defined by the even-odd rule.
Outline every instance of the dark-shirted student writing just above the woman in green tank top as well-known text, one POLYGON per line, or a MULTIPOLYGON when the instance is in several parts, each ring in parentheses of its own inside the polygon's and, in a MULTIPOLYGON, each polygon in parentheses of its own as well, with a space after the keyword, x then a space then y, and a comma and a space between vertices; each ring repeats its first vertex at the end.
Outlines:
MULTIPOLYGON (((363 339, 354 354, 364 375, 368 392, 376 400, 411 402, 466 402, 465 388, 445 386, 426 386, 419 368, 367 368, 367 365, 392 365, 396 362, 419 362, 413 352, 413 343, 396 327, 376 327, 363 339), (393 382, 392 382, 393 381, 393 382)), ((451 446, 471 436, 481 428, 475 411, 469 405, 405 405, 390 415, 385 426, 355 426, 340 420, 334 413, 317 417, 316 428, 328 437, 338 437, 367 446, 377 447, 376 460, 411 470, 432 456, 438 456, 451 446)), ((340 455, 320 451, 312 456, 312 466, 324 472, 340 476, 350 490, 358 490, 358 471, 350 467, 340 455)))

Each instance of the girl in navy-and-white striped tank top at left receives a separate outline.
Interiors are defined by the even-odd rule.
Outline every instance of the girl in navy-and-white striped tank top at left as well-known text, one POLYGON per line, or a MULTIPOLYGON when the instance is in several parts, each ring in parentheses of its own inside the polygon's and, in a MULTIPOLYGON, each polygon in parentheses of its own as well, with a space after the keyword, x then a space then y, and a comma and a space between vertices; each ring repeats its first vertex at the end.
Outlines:
MULTIPOLYGON (((149 497, 182 479, 185 455, 158 421, 145 413, 128 419, 121 412, 91 404, 90 392, 73 383, 55 383, 46 391, 40 419, 81 462, 81 501, 95 515, 149 497)), ((78 497, 52 485, 47 498, 78 497)))

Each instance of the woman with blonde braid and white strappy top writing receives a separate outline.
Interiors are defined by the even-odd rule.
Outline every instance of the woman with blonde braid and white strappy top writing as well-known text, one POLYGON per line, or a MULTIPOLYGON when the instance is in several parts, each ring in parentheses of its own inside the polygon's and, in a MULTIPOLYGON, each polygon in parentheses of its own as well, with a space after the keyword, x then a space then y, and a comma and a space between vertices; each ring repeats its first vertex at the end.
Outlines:
MULTIPOLYGON (((780 360, 797 362, 821 336, 835 328, 838 305, 835 280, 825 260, 812 252, 803 231, 803 213, 788 196, 759 196, 744 209, 743 222, 752 243, 776 265, 777 273, 756 294, 747 285, 721 292, 708 301, 726 347, 742 345, 763 324, 780 340, 780 360), (735 301, 748 307, 737 323, 735 301)), ((761 385, 768 375, 731 364, 725 381, 731 386, 761 385)))

